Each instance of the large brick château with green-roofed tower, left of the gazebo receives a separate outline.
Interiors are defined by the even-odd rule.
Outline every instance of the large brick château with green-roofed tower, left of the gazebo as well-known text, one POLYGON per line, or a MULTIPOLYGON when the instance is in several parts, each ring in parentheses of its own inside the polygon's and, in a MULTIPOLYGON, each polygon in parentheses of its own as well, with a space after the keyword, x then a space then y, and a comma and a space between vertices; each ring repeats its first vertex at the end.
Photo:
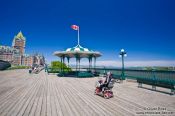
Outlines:
POLYGON ((44 65, 44 56, 39 54, 25 54, 26 38, 20 31, 12 41, 12 47, 0 45, 0 60, 8 61, 12 65, 32 66, 44 65))

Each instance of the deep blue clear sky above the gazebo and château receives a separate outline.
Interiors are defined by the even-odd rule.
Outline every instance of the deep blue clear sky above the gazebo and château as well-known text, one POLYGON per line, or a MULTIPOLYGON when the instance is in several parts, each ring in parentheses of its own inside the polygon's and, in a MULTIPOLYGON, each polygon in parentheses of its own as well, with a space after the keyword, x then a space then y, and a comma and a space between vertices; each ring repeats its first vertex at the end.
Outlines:
POLYGON ((58 59, 54 51, 76 46, 72 24, 80 26, 81 46, 103 54, 99 61, 120 61, 121 48, 128 62, 175 60, 174 0, 0 1, 0 44, 10 46, 21 30, 26 53, 48 61, 58 59))

